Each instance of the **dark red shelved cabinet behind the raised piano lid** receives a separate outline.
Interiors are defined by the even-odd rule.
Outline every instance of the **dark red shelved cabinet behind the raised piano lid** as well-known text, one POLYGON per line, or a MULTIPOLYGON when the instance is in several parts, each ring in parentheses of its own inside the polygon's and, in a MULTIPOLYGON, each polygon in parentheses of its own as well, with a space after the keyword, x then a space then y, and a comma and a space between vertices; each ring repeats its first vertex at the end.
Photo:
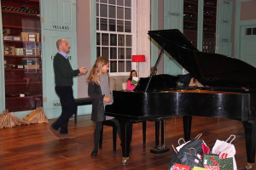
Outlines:
POLYGON ((202 35, 202 52, 215 53, 217 0, 205 0, 202 5, 203 7, 198 0, 184 0, 183 34, 195 47, 198 47, 198 34, 202 35), (202 26, 198 23, 201 9, 203 10, 202 26), (202 27, 202 32, 199 31, 201 30, 198 29, 199 26, 202 27))

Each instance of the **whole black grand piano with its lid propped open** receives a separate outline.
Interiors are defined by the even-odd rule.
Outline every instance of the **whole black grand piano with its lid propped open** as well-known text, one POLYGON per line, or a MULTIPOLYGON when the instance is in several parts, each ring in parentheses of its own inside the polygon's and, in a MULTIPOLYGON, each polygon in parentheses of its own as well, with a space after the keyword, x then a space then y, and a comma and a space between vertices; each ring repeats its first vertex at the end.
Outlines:
POLYGON ((131 124, 183 116, 184 139, 190 139, 192 116, 228 117, 243 123, 247 162, 254 163, 256 146, 256 68, 221 54, 202 53, 178 30, 148 31, 148 35, 195 77, 204 88, 177 88, 179 77, 141 78, 134 91, 113 91, 106 115, 121 126, 122 163, 130 152, 131 124), (131 106, 132 105, 132 106, 131 106))

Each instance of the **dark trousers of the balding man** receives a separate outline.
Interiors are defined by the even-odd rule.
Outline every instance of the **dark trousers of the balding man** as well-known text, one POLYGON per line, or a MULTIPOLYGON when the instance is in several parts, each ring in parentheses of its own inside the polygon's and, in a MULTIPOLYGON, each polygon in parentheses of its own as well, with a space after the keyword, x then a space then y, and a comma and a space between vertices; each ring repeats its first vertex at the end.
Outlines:
POLYGON ((55 87, 55 92, 61 100, 61 116, 52 124, 55 130, 61 127, 61 134, 67 134, 67 123, 69 118, 77 111, 75 100, 73 99, 72 87, 55 87))

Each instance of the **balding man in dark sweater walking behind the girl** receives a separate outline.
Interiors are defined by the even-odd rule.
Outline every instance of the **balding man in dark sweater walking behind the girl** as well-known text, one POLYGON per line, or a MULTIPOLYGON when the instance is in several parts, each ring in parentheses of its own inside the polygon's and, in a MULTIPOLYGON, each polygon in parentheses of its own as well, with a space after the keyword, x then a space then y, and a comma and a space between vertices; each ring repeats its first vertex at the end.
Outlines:
POLYGON ((68 133, 67 123, 69 118, 76 112, 76 104, 73 98, 73 77, 86 74, 87 69, 80 67, 73 70, 67 54, 70 51, 70 45, 66 39, 59 39, 56 42, 58 53, 54 58, 55 71, 55 92, 61 100, 61 116, 52 123, 48 129, 57 139, 75 138, 74 135, 68 133), (59 128, 60 131, 59 131, 59 128))

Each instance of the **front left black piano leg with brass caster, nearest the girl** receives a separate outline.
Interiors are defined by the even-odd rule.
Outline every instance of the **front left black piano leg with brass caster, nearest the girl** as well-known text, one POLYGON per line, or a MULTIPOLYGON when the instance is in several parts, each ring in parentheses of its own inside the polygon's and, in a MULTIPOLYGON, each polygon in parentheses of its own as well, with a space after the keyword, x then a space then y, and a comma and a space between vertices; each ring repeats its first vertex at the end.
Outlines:
POLYGON ((118 119, 120 123, 121 130, 121 146, 122 146, 122 164, 128 165, 129 153, 130 153, 130 143, 131 143, 131 120, 118 119))

